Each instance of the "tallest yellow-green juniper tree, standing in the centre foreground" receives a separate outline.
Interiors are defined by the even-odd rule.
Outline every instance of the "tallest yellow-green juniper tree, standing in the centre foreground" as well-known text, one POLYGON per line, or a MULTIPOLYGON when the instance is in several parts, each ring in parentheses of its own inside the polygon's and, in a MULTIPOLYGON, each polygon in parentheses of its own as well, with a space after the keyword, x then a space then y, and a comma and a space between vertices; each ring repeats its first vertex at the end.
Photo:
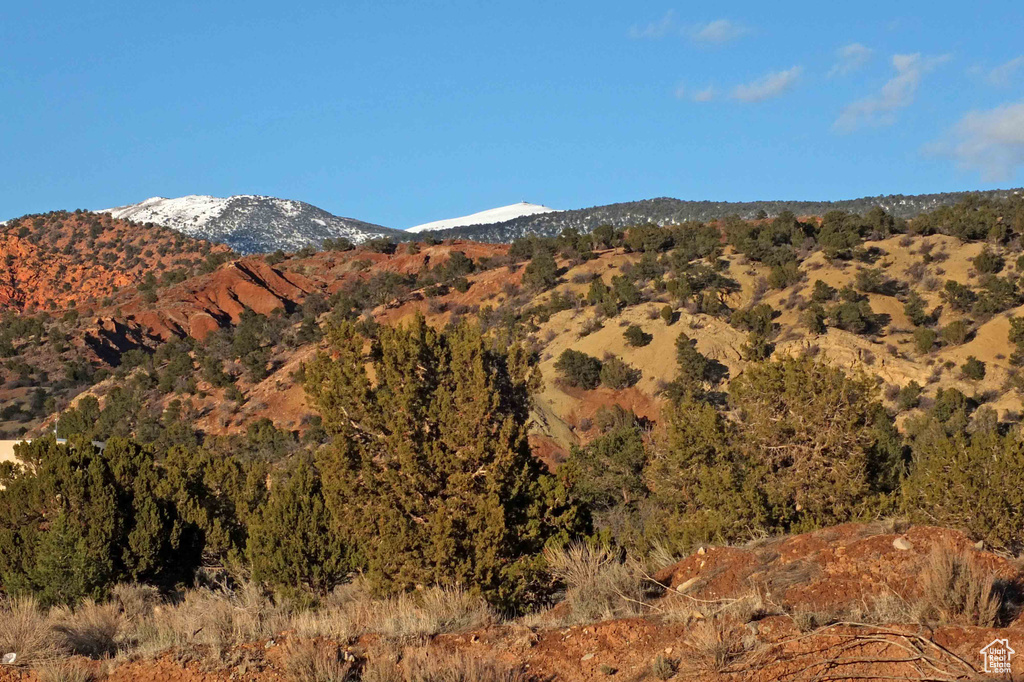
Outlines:
POLYGON ((306 368, 333 435, 321 451, 334 532, 380 593, 462 585, 505 607, 537 596, 540 552, 586 528, 527 442, 539 374, 520 346, 417 316, 369 344, 351 324, 306 368))

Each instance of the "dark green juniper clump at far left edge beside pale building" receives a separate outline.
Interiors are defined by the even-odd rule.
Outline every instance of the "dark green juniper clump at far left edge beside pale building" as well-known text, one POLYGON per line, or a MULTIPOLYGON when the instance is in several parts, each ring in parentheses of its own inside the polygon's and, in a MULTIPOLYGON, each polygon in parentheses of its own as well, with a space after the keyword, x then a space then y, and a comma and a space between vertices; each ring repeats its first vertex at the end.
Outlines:
POLYGON ((0 478, 0 584, 45 603, 98 598, 119 581, 190 579, 202 537, 167 495, 153 452, 124 438, 20 446, 0 478))

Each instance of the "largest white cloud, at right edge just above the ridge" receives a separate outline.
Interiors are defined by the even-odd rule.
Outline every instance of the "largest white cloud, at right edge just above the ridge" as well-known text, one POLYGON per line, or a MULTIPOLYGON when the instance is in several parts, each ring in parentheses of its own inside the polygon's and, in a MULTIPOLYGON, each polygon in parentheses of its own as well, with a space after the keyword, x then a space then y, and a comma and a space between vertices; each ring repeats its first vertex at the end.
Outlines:
POLYGON ((986 181, 1010 179, 1024 166, 1024 101, 968 112, 926 151, 980 171, 986 181))

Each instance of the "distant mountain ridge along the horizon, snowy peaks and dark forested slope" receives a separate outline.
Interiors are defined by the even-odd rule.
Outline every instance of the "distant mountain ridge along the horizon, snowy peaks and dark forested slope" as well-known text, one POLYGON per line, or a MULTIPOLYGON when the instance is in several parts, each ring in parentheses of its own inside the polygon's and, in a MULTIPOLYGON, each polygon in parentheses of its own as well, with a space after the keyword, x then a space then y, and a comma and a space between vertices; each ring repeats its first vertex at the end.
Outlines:
POLYGON ((643 223, 664 226, 688 221, 713 221, 730 215, 750 219, 758 217, 762 212, 767 217, 777 216, 783 211, 797 215, 821 216, 831 210, 865 213, 874 207, 881 207, 894 217, 911 218, 965 199, 1006 199, 1021 194, 1024 194, 1024 188, 880 195, 821 202, 712 202, 663 197, 568 210, 549 209, 520 202, 458 218, 415 225, 408 230, 337 216, 300 201, 262 195, 236 195, 227 198, 188 195, 177 199, 153 197, 137 204, 102 209, 97 213, 140 223, 160 224, 187 237, 225 244, 241 254, 253 254, 319 248, 325 240, 336 239, 345 239, 353 244, 373 239, 407 242, 423 232, 429 232, 431 239, 501 244, 530 236, 553 237, 565 228, 589 232, 602 224, 617 228, 643 223), (509 210, 514 213, 522 207, 528 207, 528 213, 505 220, 477 222, 480 218, 504 217, 509 210), (454 225, 453 222, 461 224, 454 225), (435 225, 441 226, 435 228, 435 225))

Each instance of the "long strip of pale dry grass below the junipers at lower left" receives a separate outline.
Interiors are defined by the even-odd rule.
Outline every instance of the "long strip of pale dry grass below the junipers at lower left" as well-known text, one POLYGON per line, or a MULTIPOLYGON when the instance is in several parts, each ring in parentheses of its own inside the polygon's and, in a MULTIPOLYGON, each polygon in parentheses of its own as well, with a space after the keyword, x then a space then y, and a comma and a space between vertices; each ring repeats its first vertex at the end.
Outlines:
MULTIPOLYGON (((430 588, 374 599, 356 582, 316 607, 299 608, 255 584, 236 590, 187 590, 169 602, 151 588, 120 585, 106 603, 87 601, 49 613, 31 598, 0 601, 0 652, 16 653, 17 665, 52 663, 46 675, 53 679, 78 679, 69 677, 78 675, 73 666, 57 665, 61 658, 156 657, 174 650, 182 659, 201 659, 208 668, 220 669, 231 664, 239 645, 288 630, 300 638, 344 642, 364 634, 385 639, 432 636, 482 627, 493 620, 482 599, 456 589, 430 588)), ((315 657, 304 649, 293 653, 292 669, 305 665, 302 670, 315 673, 313 677, 295 673, 295 679, 333 682, 353 675, 351 666, 344 662, 336 666, 330 656, 315 657)))

